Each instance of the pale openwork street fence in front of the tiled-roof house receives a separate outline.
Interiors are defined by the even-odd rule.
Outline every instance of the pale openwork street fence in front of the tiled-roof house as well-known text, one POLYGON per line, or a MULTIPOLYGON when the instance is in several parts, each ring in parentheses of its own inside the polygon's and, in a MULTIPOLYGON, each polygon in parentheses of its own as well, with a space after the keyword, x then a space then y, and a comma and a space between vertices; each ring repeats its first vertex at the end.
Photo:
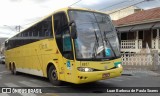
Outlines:
POLYGON ((151 53, 122 53, 124 69, 159 70, 158 51, 151 53))

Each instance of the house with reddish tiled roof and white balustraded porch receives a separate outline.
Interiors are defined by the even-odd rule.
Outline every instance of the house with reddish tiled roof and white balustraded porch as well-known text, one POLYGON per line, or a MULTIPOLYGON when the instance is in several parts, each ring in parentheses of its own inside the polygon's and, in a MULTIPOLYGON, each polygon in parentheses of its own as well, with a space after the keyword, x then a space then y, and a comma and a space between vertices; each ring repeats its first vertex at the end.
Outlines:
POLYGON ((139 11, 114 23, 122 52, 140 52, 147 47, 160 52, 160 7, 139 11))

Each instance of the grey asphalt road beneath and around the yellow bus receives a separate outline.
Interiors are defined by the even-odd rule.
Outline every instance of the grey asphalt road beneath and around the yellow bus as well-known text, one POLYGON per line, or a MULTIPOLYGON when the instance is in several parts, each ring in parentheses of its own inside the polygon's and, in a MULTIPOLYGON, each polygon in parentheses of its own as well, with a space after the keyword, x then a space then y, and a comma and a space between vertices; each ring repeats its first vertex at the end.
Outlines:
POLYGON ((46 78, 23 73, 12 75, 5 65, 0 64, 0 87, 49 87, 49 90, 52 90, 52 93, 0 93, 0 96, 160 96, 160 93, 107 93, 107 89, 111 87, 160 87, 160 75, 152 71, 124 71, 121 77, 109 80, 81 85, 64 83, 62 86, 54 86, 46 78))

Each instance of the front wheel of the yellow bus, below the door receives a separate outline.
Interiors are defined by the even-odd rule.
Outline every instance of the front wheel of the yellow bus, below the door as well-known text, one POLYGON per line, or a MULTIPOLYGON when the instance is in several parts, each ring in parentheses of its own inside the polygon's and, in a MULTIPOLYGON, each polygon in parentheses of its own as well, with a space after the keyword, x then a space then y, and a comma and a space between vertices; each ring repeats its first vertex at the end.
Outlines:
POLYGON ((49 81, 53 84, 53 85, 60 85, 61 81, 58 80, 58 74, 57 74, 57 70, 54 66, 51 66, 49 68, 48 71, 48 78, 49 81))

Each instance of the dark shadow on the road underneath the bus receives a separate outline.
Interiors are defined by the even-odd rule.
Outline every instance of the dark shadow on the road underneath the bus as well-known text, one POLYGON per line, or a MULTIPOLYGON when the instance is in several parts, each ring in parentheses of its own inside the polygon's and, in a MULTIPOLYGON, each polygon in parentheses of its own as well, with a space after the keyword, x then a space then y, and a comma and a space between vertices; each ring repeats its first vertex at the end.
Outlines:
MULTIPOLYGON (((11 75, 11 74, 8 74, 11 75)), ((27 78, 27 80, 34 79, 40 82, 45 82, 51 84, 47 78, 34 76, 25 73, 18 73, 17 77, 27 78)), ((46 93, 56 92, 56 93, 104 93, 107 88, 116 87, 114 83, 107 82, 91 82, 85 84, 73 84, 68 82, 63 82, 60 86, 52 86, 52 87, 43 87, 46 93)))

